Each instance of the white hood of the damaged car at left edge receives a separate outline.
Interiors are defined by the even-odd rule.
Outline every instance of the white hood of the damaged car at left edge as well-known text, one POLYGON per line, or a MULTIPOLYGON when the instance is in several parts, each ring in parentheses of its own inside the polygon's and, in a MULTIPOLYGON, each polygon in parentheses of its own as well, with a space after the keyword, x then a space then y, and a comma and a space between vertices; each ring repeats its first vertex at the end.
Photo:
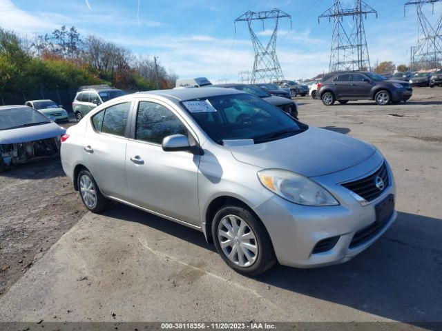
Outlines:
POLYGON ((48 139, 61 136, 65 132, 65 128, 61 128, 61 126, 58 126, 54 122, 42 124, 40 126, 1 130, 0 143, 24 143, 26 141, 48 139))

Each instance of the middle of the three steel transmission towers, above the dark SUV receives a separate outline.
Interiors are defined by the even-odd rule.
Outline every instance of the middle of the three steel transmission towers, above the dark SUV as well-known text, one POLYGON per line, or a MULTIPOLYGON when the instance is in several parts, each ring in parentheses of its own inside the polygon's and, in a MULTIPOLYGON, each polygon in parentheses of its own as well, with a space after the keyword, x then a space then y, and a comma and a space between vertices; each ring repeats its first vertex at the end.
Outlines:
POLYGON ((363 21, 367 14, 378 17, 376 10, 362 0, 356 0, 354 8, 349 9, 343 9, 340 0, 334 0, 334 5, 318 17, 318 21, 323 18, 334 20, 330 72, 371 68, 363 21), (354 21, 350 31, 343 26, 344 17, 352 17, 354 21))

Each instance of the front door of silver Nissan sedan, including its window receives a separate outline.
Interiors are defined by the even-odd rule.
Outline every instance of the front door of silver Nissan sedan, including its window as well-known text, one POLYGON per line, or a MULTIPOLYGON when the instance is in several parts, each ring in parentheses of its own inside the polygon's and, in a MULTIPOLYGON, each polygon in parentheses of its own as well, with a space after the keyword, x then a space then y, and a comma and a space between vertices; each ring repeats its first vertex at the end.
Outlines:
POLYGON ((173 219, 200 225, 200 156, 191 152, 164 152, 162 141, 171 134, 184 134, 189 141, 194 141, 186 125, 168 106, 140 101, 135 132, 126 152, 131 202, 173 219))

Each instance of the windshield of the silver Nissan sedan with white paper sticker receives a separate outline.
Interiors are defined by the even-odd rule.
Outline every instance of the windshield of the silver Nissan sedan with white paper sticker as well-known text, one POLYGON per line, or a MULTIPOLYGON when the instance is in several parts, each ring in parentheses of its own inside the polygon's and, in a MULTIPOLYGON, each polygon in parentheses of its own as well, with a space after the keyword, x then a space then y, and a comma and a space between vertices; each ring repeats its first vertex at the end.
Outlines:
POLYGON ((182 105, 216 143, 252 139, 264 143, 307 130, 278 107, 251 94, 229 94, 183 101, 182 105))

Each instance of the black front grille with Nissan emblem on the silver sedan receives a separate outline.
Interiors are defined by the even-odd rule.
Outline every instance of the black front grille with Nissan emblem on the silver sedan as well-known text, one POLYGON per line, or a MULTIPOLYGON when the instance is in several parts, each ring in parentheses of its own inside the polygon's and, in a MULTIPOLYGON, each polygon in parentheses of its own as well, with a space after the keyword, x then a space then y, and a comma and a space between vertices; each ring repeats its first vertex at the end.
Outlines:
POLYGON ((385 163, 381 165, 381 168, 376 170, 373 174, 357 181, 351 181, 349 183, 341 184, 348 190, 355 192, 359 197, 363 197, 366 201, 373 201, 379 197, 382 192, 390 185, 390 179, 388 178, 387 167, 385 163), (383 186, 376 185, 376 181, 383 182, 383 186), (379 186, 379 188, 378 188, 379 186))

